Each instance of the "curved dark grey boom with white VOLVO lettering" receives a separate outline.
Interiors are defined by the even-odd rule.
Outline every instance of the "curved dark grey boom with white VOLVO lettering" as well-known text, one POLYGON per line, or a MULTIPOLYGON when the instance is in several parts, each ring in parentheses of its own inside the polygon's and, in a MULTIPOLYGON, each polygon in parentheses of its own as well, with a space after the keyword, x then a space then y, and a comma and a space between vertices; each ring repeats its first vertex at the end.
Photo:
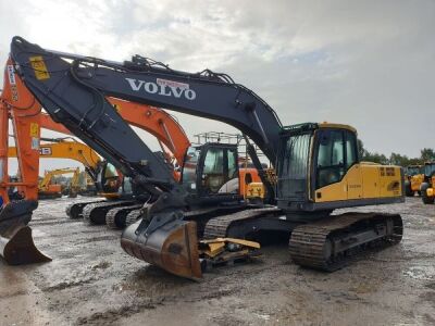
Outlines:
MULTIPOLYGON (((100 121, 107 120, 104 113, 110 109, 107 102, 97 101, 97 95, 100 100, 102 95, 112 96, 233 125, 251 138, 273 164, 276 161, 282 124, 275 112, 253 91, 235 84, 225 74, 211 71, 198 74, 177 72, 140 57, 135 57, 130 62, 117 63, 48 51, 18 37, 12 42, 12 55, 15 61, 23 60, 24 65, 20 64, 23 73, 32 76, 26 85, 37 97, 45 96, 45 87, 57 85, 58 91, 69 89, 69 95, 63 93, 65 100, 74 98, 74 103, 69 104, 87 105, 82 110, 82 114, 78 114, 76 117, 79 122, 95 115, 100 121), (32 53, 35 55, 30 55, 32 53), (34 58, 33 61, 30 57, 34 58), (40 57, 41 61, 35 61, 36 57, 40 57), (44 64, 45 68, 34 71, 33 66, 39 63, 44 64), (42 78, 50 77, 38 79, 35 73, 42 78), (75 92, 86 92, 88 96, 76 97, 75 92)), ((49 98, 50 100, 46 101, 52 106, 62 108, 58 101, 52 102, 55 100, 53 92, 49 98)), ((55 115, 63 120, 64 113, 64 110, 60 109, 55 115)), ((256 167, 262 171, 261 166, 256 167)))

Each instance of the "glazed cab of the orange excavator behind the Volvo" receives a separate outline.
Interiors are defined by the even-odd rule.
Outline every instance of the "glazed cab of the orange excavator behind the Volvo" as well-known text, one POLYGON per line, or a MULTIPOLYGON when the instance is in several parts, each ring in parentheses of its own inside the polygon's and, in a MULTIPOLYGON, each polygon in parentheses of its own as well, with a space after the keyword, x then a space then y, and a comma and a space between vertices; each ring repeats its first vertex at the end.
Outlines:
POLYGON ((237 146, 208 142, 187 149, 182 185, 194 197, 224 200, 239 193, 237 146))

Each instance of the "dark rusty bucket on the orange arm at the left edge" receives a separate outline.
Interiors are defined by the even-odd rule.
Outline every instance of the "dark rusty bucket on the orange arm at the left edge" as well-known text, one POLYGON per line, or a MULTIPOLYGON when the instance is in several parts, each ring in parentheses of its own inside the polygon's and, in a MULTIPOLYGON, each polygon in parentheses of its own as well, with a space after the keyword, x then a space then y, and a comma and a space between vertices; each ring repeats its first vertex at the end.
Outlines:
POLYGON ((37 205, 36 201, 22 200, 8 203, 0 211, 0 254, 10 265, 51 261, 35 247, 27 226, 37 205))

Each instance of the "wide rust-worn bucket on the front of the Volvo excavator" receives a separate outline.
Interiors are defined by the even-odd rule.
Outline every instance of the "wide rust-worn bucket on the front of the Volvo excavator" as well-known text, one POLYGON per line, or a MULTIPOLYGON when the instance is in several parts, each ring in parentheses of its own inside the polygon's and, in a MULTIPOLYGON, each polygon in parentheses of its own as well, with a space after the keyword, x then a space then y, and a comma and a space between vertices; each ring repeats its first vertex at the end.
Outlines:
POLYGON ((177 276, 202 277, 195 222, 172 221, 148 235, 147 230, 136 234, 140 222, 128 226, 121 237, 121 247, 128 254, 177 276))

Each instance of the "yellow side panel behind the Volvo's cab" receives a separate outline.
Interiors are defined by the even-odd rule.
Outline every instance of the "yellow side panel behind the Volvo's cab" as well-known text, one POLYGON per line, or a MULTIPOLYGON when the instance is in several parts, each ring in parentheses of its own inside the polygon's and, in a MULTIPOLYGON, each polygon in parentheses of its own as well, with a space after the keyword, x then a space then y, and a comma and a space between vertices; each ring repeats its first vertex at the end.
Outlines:
POLYGON ((315 191, 315 202, 401 197, 399 166, 372 163, 352 165, 340 181, 315 191), (319 192, 321 195, 319 195, 319 192))

